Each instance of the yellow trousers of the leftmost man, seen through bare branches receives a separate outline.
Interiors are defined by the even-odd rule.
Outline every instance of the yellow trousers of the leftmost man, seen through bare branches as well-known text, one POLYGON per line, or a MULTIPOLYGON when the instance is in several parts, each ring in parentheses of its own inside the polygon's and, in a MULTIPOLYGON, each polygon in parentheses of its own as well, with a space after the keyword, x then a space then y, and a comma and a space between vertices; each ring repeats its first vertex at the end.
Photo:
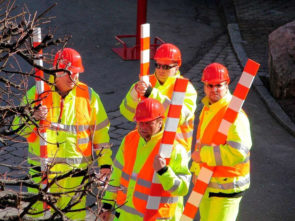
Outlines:
MULTIPOLYGON (((30 172, 30 174, 34 174, 33 172, 30 172)), ((61 181, 58 182, 58 185, 53 184, 50 187, 50 192, 56 193, 56 192, 65 192, 65 191, 71 191, 73 189, 75 189, 77 186, 80 185, 81 181, 82 181, 83 177, 69 177, 67 179, 63 179, 61 181), (64 189, 66 188, 66 189, 64 189)), ((40 182, 41 178, 37 177, 34 178, 35 182, 40 182)), ((28 192, 32 192, 32 193, 37 193, 37 189, 33 189, 33 188, 29 188, 28 187, 28 192)), ((58 208, 65 208, 65 206, 70 202, 70 200, 72 199, 72 196, 74 195, 74 193, 70 193, 70 194, 63 194, 59 199, 58 202, 56 203, 56 206, 58 208)), ((86 197, 83 197, 82 200, 76 204, 75 206, 73 206, 71 209, 82 209, 85 208, 86 206, 86 197)), ((32 207, 32 210, 30 210, 30 212, 40 212, 43 211, 43 202, 37 201, 37 203, 35 203, 32 207)), ((53 210, 51 211, 53 212, 53 210)), ((30 215, 31 217, 42 217, 43 213, 39 214, 39 215, 30 215)), ((86 217, 86 211, 80 211, 80 212, 68 212, 66 213, 66 216, 71 218, 72 220, 85 220, 86 217)))

